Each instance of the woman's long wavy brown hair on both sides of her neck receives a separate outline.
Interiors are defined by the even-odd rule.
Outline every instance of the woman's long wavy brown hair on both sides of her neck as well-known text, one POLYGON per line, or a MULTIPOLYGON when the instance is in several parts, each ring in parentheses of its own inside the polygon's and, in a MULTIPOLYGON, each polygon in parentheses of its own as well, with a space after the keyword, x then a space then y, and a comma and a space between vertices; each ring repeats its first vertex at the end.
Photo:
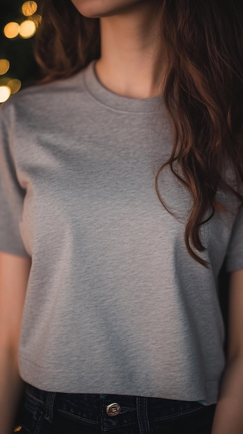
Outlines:
MULTIPOLYGON (((99 19, 83 17, 68 0, 41 3, 36 58, 43 82, 72 76, 100 57, 99 19)), ((170 211, 159 192, 159 175, 169 165, 192 196, 186 247, 208 266, 197 252, 205 250, 201 225, 225 210, 217 191, 237 196, 239 205, 243 201, 243 3, 162 0, 160 8, 167 59, 163 93, 174 146, 156 174, 155 188, 170 211), (226 162, 235 173, 233 184, 224 176, 226 162)))

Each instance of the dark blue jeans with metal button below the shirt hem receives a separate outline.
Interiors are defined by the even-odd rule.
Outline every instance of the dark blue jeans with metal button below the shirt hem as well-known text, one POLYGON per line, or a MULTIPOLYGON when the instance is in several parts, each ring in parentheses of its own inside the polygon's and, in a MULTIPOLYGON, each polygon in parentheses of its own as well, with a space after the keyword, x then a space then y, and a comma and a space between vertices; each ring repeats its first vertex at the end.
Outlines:
POLYGON ((21 434, 210 434, 215 405, 27 385, 21 434), (112 405, 111 405, 112 404, 112 405))

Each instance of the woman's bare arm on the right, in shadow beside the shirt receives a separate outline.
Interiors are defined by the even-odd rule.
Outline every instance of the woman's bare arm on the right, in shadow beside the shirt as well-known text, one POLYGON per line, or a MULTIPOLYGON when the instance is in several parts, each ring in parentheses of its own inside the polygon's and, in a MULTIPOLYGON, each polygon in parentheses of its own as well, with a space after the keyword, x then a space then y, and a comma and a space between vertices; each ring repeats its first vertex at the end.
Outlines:
POLYGON ((228 357, 212 434, 243 434, 243 270, 231 273, 228 357))

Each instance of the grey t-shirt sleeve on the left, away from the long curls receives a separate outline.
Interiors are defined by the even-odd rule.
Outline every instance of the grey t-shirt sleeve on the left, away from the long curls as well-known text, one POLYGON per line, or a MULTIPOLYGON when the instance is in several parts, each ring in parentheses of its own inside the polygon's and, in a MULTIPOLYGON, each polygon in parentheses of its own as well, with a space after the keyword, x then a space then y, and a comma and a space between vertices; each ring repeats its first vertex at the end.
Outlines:
POLYGON ((0 110, 0 250, 21 257, 29 257, 19 230, 25 193, 17 180, 11 128, 0 110))

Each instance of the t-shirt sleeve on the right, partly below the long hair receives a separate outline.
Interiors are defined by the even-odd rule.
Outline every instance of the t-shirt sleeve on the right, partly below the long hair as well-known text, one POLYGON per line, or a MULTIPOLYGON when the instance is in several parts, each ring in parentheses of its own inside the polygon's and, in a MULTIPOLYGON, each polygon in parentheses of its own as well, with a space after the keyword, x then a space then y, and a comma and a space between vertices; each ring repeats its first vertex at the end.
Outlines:
POLYGON ((231 272, 243 268, 243 205, 238 211, 226 253, 226 270, 231 272))

